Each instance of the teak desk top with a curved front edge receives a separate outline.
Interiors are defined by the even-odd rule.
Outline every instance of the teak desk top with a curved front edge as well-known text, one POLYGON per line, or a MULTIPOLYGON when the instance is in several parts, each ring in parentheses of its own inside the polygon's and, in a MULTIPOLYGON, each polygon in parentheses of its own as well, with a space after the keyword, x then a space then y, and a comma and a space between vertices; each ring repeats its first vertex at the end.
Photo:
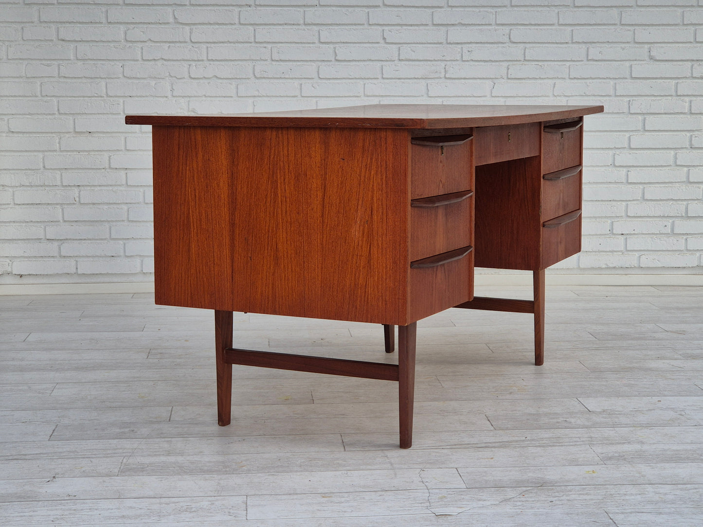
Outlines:
POLYGON ((155 126, 285 126, 440 129, 569 119, 602 106, 375 104, 240 115, 127 115, 127 124, 155 126))

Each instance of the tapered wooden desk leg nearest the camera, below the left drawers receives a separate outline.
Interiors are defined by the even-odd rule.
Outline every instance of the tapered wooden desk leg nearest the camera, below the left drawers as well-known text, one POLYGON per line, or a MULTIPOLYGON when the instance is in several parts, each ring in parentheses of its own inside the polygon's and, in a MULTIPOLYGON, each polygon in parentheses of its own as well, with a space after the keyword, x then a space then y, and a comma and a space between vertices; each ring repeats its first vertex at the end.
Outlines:
POLYGON ((417 323, 398 326, 398 402, 400 448, 413 445, 413 403, 415 401, 415 337, 417 323))

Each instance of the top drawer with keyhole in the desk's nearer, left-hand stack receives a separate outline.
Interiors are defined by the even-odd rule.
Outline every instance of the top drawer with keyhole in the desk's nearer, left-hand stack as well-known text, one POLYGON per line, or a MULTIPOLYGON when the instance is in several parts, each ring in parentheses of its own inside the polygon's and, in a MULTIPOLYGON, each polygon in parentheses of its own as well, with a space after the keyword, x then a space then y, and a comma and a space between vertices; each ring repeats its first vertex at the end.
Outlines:
POLYGON ((411 199, 472 188, 472 136, 432 136, 411 139, 411 199))

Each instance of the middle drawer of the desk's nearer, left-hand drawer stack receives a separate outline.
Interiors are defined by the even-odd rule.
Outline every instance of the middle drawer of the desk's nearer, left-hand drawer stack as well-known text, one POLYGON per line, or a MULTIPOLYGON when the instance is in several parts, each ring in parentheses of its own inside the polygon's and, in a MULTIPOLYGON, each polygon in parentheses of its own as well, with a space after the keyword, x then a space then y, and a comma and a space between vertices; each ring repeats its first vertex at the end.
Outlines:
POLYGON ((473 191, 411 201, 410 259, 473 245, 473 191))

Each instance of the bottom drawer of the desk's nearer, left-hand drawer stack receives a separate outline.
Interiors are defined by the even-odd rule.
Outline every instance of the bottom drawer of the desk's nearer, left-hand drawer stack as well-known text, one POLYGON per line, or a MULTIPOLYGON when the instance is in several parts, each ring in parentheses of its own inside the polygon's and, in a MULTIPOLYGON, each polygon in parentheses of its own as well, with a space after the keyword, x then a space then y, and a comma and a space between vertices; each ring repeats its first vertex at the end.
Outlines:
POLYGON ((412 321, 474 297, 473 247, 413 261, 409 271, 408 318, 412 321))

